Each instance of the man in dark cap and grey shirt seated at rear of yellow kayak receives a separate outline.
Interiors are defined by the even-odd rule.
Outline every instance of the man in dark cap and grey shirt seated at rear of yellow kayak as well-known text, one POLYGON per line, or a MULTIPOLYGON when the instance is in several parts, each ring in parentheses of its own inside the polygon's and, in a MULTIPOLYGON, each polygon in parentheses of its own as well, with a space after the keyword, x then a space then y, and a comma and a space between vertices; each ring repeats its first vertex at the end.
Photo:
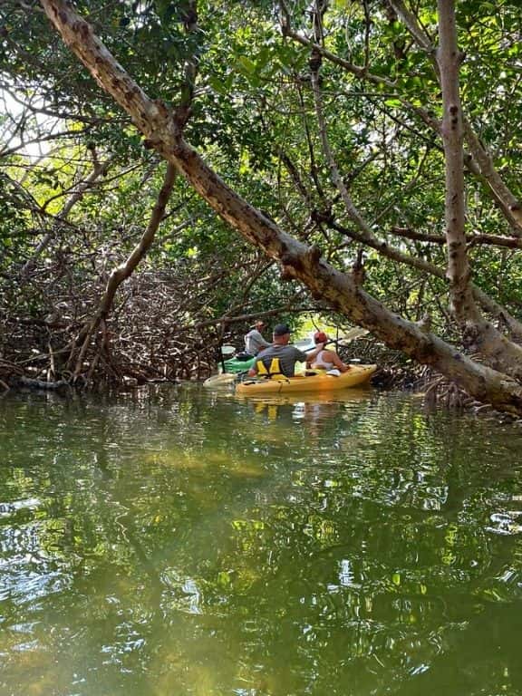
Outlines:
POLYGON ((308 358, 323 350, 323 343, 318 343, 312 353, 303 353, 295 345, 289 345, 290 327, 276 324, 272 333, 272 344, 257 355, 256 364, 250 368, 250 377, 265 376, 272 379, 294 377, 295 362, 306 362, 308 358))

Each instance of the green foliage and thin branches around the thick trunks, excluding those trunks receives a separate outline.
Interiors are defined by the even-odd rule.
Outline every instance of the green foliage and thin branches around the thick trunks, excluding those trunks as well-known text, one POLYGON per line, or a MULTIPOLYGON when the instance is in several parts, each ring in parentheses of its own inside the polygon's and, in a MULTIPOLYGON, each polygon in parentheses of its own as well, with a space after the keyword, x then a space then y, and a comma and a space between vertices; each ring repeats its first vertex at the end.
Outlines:
MULTIPOLYGON (((445 296, 433 3, 89 0, 76 7, 150 97, 186 108, 185 137, 231 189, 333 266, 355 266, 365 290, 393 312, 411 321, 430 314, 432 329, 459 343, 445 296)), ((469 262, 475 285, 505 308, 492 314, 502 326, 506 316, 517 321, 522 302, 522 230, 513 212, 521 11, 513 2, 492 7, 460 2, 457 20, 469 262), (494 176, 478 160, 482 152, 494 176)), ((21 322, 24 333, 37 324, 38 350, 44 341, 59 351, 96 313, 111 269, 139 242, 164 165, 78 67, 38 3, 6 0, 0 13, 7 114, 0 309, 6 337, 20 335, 21 322), (56 328, 46 317, 58 314, 64 321, 56 328)), ((273 261, 178 178, 146 260, 121 287, 108 333, 92 335, 80 372, 92 377, 107 365, 90 372, 108 334, 113 376, 154 362, 158 374, 175 376, 187 346, 189 362, 211 361, 202 344, 237 339, 231 326, 240 334, 256 314, 292 318, 323 305, 284 282, 273 261), (150 336, 145 353, 142 335, 150 336), (121 341, 132 345, 123 370, 121 341)), ((16 362, 14 348, 4 345, 16 362)))

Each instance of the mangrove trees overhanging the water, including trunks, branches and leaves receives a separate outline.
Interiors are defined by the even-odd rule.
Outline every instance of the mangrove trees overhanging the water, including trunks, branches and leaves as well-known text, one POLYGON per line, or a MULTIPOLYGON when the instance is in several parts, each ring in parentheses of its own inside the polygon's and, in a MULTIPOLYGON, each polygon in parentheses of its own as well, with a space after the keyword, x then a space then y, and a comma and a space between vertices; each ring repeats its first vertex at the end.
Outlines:
POLYGON ((147 334, 165 372, 188 334, 193 362, 234 318, 329 308, 522 410, 517 3, 0 13, 11 344, 39 320, 37 340, 63 349, 55 372, 92 376, 147 334))

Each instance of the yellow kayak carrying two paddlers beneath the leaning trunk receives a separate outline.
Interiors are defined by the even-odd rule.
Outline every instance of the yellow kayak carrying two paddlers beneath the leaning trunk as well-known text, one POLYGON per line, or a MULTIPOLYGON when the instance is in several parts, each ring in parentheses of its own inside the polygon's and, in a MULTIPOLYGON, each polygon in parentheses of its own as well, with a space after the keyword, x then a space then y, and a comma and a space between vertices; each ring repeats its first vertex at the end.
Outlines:
POLYGON ((241 396, 249 394, 260 396, 299 391, 337 391, 368 382, 375 370, 377 365, 351 365, 348 372, 342 372, 339 376, 324 372, 311 376, 297 374, 295 377, 285 377, 284 380, 246 380, 237 384, 236 393, 241 396))

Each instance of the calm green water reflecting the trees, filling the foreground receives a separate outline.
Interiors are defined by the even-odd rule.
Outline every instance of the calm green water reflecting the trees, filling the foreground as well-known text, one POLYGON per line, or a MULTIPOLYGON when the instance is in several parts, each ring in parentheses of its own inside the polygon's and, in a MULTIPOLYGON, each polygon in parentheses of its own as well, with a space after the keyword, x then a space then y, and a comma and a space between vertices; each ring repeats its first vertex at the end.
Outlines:
POLYGON ((522 693, 522 428, 410 396, 0 401, 3 696, 522 693))

